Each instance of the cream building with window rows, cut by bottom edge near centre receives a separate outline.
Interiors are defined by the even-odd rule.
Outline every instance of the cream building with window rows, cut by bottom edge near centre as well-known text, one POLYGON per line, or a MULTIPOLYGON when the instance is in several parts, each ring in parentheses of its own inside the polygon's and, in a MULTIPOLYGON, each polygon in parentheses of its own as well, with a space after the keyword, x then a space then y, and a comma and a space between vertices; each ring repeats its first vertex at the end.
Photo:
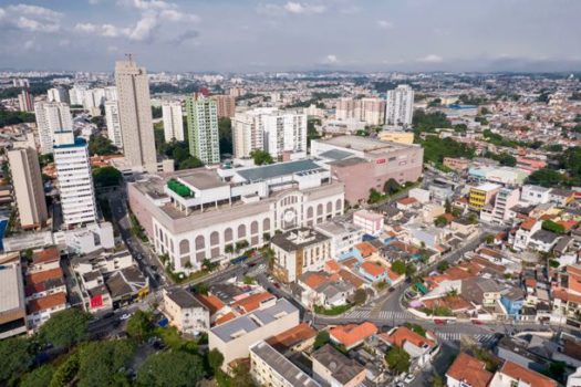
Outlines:
POLYGON ((249 351, 250 375, 259 386, 321 386, 264 341, 253 344, 249 351))

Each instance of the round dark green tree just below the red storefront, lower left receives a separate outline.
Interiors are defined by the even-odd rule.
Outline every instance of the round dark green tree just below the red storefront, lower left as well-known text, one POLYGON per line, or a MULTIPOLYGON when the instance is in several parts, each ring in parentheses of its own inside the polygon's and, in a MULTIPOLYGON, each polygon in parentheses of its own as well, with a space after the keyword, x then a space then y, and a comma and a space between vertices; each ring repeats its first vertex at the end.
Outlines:
POLYGON ((89 336, 91 315, 71 307, 58 312, 39 330, 39 336, 55 347, 70 348, 89 336))

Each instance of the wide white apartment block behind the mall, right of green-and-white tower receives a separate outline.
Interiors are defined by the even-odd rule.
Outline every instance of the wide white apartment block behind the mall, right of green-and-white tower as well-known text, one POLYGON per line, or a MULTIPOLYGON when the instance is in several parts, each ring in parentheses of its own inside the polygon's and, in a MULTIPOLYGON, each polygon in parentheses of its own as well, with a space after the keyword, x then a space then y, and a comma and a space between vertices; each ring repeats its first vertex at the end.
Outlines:
POLYGON ((255 149, 273 158, 283 153, 307 151, 307 115, 259 107, 237 113, 232 121, 235 157, 249 157, 255 149))

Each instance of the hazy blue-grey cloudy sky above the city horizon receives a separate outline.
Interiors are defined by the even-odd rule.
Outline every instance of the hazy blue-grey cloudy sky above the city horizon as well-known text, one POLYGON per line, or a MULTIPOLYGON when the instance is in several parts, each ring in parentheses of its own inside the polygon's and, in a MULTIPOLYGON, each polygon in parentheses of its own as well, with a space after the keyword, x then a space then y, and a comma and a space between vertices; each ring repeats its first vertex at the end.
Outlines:
POLYGON ((579 71, 581 0, 2 0, 0 69, 579 71))

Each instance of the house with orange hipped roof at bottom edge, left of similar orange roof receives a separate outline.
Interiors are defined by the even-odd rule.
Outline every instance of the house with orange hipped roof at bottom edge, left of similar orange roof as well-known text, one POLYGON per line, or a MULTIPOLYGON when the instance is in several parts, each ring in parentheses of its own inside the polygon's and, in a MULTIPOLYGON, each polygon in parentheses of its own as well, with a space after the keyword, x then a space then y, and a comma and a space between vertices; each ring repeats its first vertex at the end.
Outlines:
POLYGON ((477 358, 460 353, 446 372, 447 387, 488 387, 492 374, 486 370, 486 364, 477 358))

